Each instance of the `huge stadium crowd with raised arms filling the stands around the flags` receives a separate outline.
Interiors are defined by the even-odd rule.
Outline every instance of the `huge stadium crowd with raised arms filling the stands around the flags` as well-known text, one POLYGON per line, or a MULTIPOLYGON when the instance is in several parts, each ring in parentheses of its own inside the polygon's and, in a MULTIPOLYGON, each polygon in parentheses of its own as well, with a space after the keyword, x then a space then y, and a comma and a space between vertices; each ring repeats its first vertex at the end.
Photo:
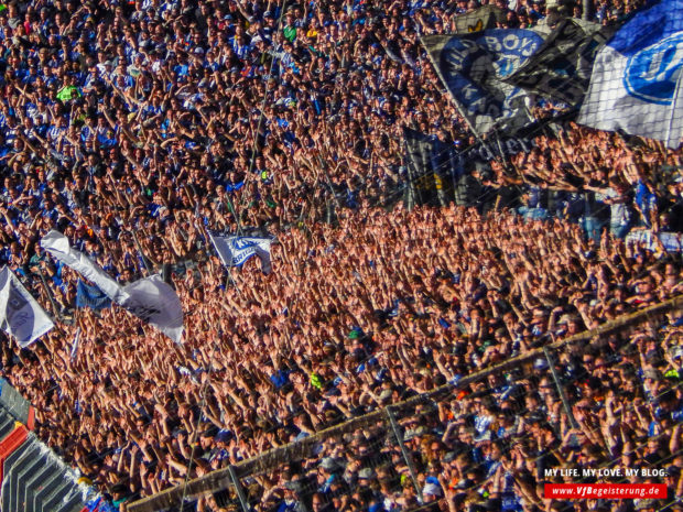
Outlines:
MULTIPOLYGON (((680 259, 621 240, 681 231, 681 174, 660 172, 681 153, 660 144, 567 124, 510 165, 468 164, 456 204, 378 206, 406 179, 404 128, 474 143, 419 36, 453 31, 479 6, 34 0, 0 12, 0 259, 72 318, 30 349, 3 344, 2 374, 36 406, 39 434, 117 506, 681 293, 680 259), (319 222, 330 207, 337 222, 319 222), (274 272, 250 261, 228 280, 207 229, 246 227, 277 235, 274 272), (163 269, 184 344, 121 309, 75 311, 77 275, 37 244, 50 229, 121 283, 163 269)), ((543 2, 498 6, 501 28, 553 18, 543 2)), ((640 3, 595 7, 610 23, 640 3)), ((432 439, 424 499, 463 510, 457 490, 481 489, 488 510, 553 510, 532 451, 544 465, 551 451, 584 465, 665 460, 681 495, 677 324, 563 356, 559 369, 587 382, 571 396, 576 426, 542 363, 492 378, 514 393, 444 402, 406 439, 411 450, 432 439)), ((323 478, 311 475, 318 462, 329 480, 318 493, 300 499, 289 468, 257 482, 254 506, 415 503, 410 486, 382 491, 379 470, 342 502, 361 486, 362 458, 324 447, 297 468, 304 483, 323 478)))

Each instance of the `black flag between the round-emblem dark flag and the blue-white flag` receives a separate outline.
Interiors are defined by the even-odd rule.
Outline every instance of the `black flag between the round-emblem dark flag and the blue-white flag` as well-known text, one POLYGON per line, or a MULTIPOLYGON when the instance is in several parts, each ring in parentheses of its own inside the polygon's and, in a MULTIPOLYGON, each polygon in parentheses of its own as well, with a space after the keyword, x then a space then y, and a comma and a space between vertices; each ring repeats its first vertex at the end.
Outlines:
POLYGON ((595 57, 615 30, 568 18, 505 81, 539 96, 577 106, 588 90, 595 57))

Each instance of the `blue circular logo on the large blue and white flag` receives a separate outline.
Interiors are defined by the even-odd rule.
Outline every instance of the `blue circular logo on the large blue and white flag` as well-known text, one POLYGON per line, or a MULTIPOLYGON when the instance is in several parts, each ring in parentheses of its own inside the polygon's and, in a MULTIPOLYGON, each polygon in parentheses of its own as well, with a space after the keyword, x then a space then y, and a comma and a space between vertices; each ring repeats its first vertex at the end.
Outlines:
POLYGON ((630 56, 624 72, 629 95, 658 105, 671 105, 683 66, 683 32, 630 56))

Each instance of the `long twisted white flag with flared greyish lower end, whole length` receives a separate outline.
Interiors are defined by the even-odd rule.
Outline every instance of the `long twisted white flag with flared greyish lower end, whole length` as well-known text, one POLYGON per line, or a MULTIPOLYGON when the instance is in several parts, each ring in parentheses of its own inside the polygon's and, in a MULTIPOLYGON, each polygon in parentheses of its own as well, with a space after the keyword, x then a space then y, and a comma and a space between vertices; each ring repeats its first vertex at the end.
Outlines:
POLYGON ((73 249, 68 239, 50 231, 41 247, 55 259, 97 285, 112 302, 140 319, 152 324, 169 338, 180 342, 183 335, 183 308, 175 291, 159 275, 121 286, 82 252, 73 249))

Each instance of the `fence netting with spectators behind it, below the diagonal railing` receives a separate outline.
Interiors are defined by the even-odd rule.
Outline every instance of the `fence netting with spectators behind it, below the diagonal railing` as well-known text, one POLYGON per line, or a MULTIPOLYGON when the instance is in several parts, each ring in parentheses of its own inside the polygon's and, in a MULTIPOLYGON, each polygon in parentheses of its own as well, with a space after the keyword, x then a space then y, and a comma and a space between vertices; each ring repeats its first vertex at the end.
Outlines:
MULTIPOLYGON (((231 480, 218 478, 226 470, 214 473, 237 487, 177 490, 204 503, 198 510, 525 512, 616 510, 607 500, 549 500, 546 483, 651 482, 665 484, 668 498, 631 506, 677 510, 682 309, 670 301, 513 359, 492 358, 486 370, 455 373, 401 402, 379 386, 369 392, 383 408, 238 462, 227 470, 231 480)), ((421 372, 457 369, 449 359, 458 350, 421 372)), ((152 497, 129 510, 154 506, 152 497)), ((165 506, 177 510, 173 500, 165 506)))

